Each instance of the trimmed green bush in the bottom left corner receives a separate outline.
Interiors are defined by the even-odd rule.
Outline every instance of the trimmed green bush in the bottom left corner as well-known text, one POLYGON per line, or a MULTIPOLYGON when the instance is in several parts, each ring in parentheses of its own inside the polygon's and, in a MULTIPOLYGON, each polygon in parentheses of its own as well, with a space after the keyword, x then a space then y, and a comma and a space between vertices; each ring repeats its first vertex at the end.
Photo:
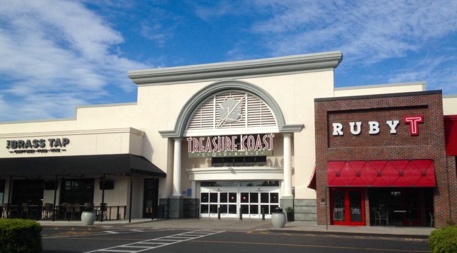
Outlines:
POLYGON ((0 252, 40 252, 41 230, 35 221, 0 219, 0 252))

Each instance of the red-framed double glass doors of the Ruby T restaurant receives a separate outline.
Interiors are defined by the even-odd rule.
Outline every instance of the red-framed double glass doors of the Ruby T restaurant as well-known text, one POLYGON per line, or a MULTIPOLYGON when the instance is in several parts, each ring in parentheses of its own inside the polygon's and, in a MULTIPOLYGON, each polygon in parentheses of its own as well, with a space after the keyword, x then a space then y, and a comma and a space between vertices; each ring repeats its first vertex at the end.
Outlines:
POLYGON ((362 189, 334 188, 330 192, 331 221, 334 225, 365 226, 362 189))

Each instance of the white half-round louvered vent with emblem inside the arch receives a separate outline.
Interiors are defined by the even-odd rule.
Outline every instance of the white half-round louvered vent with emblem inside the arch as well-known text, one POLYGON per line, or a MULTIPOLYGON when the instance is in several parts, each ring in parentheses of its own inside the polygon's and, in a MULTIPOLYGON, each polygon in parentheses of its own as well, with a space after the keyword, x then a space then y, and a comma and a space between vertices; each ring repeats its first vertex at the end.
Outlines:
POLYGON ((274 127, 270 107, 258 97, 240 91, 224 91, 208 97, 193 112, 187 130, 274 127))

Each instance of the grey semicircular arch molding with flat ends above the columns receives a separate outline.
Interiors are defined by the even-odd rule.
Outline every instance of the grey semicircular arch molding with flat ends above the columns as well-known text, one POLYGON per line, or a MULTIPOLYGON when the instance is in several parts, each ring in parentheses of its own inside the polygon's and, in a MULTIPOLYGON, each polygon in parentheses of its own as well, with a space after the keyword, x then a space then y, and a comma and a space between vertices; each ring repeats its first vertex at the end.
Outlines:
POLYGON ((164 138, 181 138, 184 137, 184 131, 187 121, 192 116, 193 111, 209 96, 224 91, 224 90, 241 90, 250 92, 260 99, 264 100, 271 108, 275 115, 279 132, 300 132, 304 124, 285 124, 284 116, 281 112, 276 100, 264 89, 244 81, 221 81, 207 85, 193 94, 189 100, 184 104, 181 112, 176 119, 175 128, 173 130, 159 131, 160 135, 164 138))

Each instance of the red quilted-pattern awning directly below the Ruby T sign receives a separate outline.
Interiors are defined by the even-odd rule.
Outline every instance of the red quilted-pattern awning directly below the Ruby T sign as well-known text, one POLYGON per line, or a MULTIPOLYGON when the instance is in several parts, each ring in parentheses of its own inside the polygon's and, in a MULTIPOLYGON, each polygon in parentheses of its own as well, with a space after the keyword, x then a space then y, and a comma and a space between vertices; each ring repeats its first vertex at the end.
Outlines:
POLYGON ((331 187, 436 187, 433 160, 331 161, 331 187))

